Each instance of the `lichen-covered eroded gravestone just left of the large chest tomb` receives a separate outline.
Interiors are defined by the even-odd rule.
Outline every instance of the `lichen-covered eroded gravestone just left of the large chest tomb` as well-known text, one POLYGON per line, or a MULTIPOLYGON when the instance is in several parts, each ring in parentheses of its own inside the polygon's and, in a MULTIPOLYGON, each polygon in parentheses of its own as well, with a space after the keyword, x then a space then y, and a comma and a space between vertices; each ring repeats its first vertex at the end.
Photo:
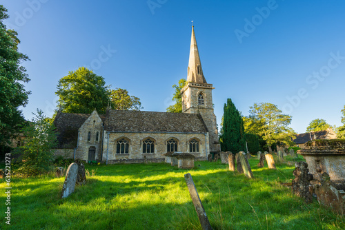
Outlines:
POLYGON ((310 181, 313 180, 313 174, 309 173, 308 164, 304 161, 295 163, 293 176, 295 176, 292 182, 294 194, 302 197, 307 203, 312 202, 313 196, 310 181))

